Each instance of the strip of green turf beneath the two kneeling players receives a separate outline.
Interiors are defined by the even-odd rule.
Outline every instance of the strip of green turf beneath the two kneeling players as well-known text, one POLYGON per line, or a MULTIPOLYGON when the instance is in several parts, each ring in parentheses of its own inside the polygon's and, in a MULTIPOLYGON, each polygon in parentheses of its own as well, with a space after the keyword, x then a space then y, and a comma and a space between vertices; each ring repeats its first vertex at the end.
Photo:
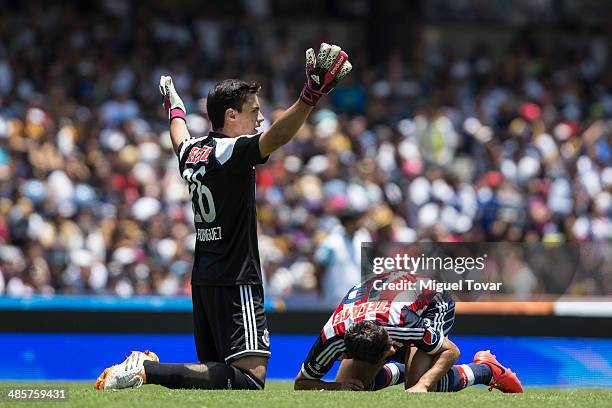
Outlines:
MULTIPOLYGON (((0 383, 0 388, 47 388, 66 387, 69 400, 66 402, 45 403, 43 407, 308 407, 308 408, 383 408, 383 407, 444 407, 444 408, 484 408, 509 407, 610 407, 610 389, 527 389, 522 395, 502 394, 497 390, 488 392, 484 387, 474 387, 459 393, 406 394, 400 387, 392 387, 380 392, 329 392, 292 390, 290 382, 269 381, 266 390, 259 391, 196 391, 169 390, 160 386, 145 385, 139 389, 122 391, 94 391, 91 384, 84 383, 0 383)), ((4 407, 41 406, 27 402, 6 403, 4 407)))

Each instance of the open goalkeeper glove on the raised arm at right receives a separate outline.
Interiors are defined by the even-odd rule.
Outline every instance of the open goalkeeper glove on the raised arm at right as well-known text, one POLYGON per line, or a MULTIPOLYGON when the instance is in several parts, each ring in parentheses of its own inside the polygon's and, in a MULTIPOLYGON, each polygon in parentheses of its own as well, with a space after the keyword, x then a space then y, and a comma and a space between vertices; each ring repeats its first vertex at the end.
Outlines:
POLYGON ((312 48, 306 51, 306 84, 300 99, 315 106, 322 95, 330 93, 351 72, 348 55, 337 45, 321 44, 315 58, 312 48))

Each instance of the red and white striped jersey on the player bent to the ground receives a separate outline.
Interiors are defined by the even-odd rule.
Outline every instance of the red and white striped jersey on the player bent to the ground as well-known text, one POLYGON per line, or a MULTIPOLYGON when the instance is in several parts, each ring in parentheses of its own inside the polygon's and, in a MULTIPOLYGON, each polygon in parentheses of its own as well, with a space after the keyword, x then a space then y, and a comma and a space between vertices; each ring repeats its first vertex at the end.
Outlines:
POLYGON ((447 312, 452 312, 454 319, 454 302, 446 292, 415 290, 389 294, 376 290, 371 281, 354 286, 323 326, 302 364, 302 374, 309 379, 320 379, 331 370, 345 352, 344 334, 362 320, 384 326, 397 343, 435 354, 449 327, 444 321, 444 316, 451 315, 447 312))

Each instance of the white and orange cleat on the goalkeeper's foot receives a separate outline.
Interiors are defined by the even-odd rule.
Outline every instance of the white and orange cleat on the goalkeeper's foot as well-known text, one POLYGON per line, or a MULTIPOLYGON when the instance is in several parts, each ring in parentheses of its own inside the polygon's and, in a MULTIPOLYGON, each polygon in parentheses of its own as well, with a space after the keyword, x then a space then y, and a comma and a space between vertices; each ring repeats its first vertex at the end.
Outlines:
POLYGON ((146 382, 145 361, 159 362, 157 354, 152 351, 132 351, 121 364, 105 369, 96 380, 96 390, 119 390, 138 388, 146 382))

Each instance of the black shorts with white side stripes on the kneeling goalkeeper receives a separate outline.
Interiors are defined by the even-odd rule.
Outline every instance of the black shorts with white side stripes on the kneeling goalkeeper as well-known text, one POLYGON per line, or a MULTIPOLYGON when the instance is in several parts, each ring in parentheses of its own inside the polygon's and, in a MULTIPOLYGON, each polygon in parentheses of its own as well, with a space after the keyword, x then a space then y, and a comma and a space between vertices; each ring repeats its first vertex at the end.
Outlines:
POLYGON ((270 357, 270 336, 261 285, 192 285, 198 360, 231 363, 245 356, 270 357))

